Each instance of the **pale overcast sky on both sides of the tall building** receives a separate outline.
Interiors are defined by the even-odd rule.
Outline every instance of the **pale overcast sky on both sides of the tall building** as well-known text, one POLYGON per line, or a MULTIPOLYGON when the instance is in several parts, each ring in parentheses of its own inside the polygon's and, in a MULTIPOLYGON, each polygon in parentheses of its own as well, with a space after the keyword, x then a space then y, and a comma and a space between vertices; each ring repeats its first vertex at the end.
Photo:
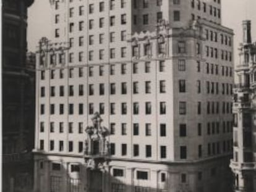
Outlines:
MULTIPOLYGON (((164 0, 166 1, 166 0, 164 0)), ((182 0, 190 1, 190 0, 182 0)), ((256 0, 221 0, 222 23, 234 30, 234 54, 242 41, 242 20, 252 20, 252 39, 256 41, 256 0)), ((42 36, 50 36, 49 0, 35 0, 28 9, 28 51, 35 51, 42 36)), ((237 60, 236 60, 237 61, 237 60)))

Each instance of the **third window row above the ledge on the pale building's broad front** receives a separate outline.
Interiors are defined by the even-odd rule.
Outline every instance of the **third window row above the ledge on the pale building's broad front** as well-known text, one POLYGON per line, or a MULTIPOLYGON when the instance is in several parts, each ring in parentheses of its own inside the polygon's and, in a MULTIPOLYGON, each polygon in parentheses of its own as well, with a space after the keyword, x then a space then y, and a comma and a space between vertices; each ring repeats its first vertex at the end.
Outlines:
MULTIPOLYGON (((99 107, 100 107, 100 110, 99 110, 100 114, 105 114, 105 104, 102 102, 102 103, 100 103, 99 107)), ((166 114, 166 102, 160 102, 159 107, 160 107, 159 114, 160 115, 166 114)), ((88 113, 89 114, 94 114, 95 112, 96 111, 95 111, 94 104, 89 103, 88 113)), ((50 104, 49 113, 51 115, 56 114, 55 113, 55 104, 50 104)), ((64 114, 64 104, 59 104, 59 113, 64 114)), ((82 103, 79 104, 78 113, 79 113, 79 115, 83 114, 83 104, 82 103)), ((41 115, 45 114, 45 104, 40 105, 40 114, 41 115)), ((74 114, 74 104, 69 104, 69 115, 73 115, 73 114, 74 114)), ((116 114, 116 103, 114 103, 114 102, 110 103, 110 114, 111 115, 116 114)), ((127 114, 127 103, 126 102, 121 103, 121 114, 122 115, 127 114)), ((146 115, 152 114, 152 104, 151 104, 151 102, 145 102, 145 114, 146 115)))

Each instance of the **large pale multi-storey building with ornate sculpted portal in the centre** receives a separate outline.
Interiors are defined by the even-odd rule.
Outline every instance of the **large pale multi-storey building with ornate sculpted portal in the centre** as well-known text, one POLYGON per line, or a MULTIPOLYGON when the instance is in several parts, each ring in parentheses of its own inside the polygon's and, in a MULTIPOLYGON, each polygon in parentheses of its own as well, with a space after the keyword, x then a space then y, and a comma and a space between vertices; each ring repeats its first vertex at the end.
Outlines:
POLYGON ((221 2, 50 2, 35 191, 231 191, 233 30, 221 2))

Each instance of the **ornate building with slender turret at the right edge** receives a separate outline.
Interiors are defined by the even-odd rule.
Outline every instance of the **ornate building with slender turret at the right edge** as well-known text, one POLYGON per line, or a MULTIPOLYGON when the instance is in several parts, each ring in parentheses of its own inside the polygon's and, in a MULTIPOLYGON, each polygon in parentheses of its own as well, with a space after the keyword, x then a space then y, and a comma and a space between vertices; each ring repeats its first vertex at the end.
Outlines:
POLYGON ((250 192, 256 190, 256 42, 252 43, 250 20, 245 20, 242 27, 244 38, 239 48, 237 84, 234 87, 234 157, 230 167, 235 176, 235 191, 250 192))

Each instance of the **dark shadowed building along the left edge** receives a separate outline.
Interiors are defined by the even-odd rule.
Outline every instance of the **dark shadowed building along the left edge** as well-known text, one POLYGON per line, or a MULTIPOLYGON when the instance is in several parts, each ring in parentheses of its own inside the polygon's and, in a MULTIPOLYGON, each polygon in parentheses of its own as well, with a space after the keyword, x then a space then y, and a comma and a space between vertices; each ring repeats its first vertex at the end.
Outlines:
POLYGON ((2 1, 2 190, 33 190, 35 62, 28 69, 27 8, 33 0, 2 1))

